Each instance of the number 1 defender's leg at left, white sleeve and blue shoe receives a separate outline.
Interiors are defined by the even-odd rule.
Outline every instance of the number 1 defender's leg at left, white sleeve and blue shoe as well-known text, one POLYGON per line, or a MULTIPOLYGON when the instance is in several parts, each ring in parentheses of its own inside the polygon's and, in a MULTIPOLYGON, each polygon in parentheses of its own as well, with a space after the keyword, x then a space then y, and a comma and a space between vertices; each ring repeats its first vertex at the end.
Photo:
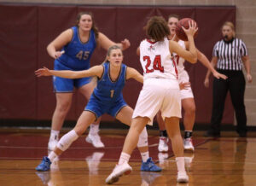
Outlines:
POLYGON ((49 171, 51 162, 59 155, 61 155, 70 145, 81 136, 87 127, 96 119, 96 115, 89 111, 84 111, 73 128, 72 131, 67 132, 47 156, 44 156, 42 162, 37 166, 37 171, 49 171))

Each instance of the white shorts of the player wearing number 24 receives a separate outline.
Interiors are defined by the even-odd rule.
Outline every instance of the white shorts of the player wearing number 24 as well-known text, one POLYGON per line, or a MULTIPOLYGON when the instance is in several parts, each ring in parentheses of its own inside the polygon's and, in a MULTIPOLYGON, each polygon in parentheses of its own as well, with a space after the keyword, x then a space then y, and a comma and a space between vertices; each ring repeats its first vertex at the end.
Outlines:
POLYGON ((153 119, 158 111, 162 118, 181 118, 181 99, 178 82, 170 78, 147 78, 143 90, 137 100, 132 118, 148 117, 153 125, 153 119))

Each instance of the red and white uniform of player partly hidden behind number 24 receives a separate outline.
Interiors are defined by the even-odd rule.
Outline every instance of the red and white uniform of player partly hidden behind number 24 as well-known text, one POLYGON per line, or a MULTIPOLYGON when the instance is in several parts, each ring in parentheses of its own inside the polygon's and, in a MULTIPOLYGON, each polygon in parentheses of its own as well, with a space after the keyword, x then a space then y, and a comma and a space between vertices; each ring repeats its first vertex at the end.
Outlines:
MULTIPOLYGON (((183 49, 186 49, 185 43, 182 40, 179 40, 177 43, 181 45, 183 49)), ((179 83, 189 82, 189 74, 184 68, 185 60, 179 55, 177 55, 176 53, 172 53, 172 56, 177 63, 178 82, 179 83)), ((189 87, 188 89, 181 90, 180 94, 181 94, 182 100, 186 98, 194 98, 191 87, 189 87)))

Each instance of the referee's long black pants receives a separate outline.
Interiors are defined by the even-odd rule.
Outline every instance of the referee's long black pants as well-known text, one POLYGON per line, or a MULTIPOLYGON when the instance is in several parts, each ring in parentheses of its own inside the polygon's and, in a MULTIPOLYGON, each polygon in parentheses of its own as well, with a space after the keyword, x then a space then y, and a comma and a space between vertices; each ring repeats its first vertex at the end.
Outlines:
POLYGON ((228 78, 213 79, 213 100, 212 100, 212 119, 210 133, 219 135, 220 124, 224 113, 224 103, 228 91, 230 90, 231 101, 236 112, 236 131, 239 134, 247 133, 247 115, 244 105, 245 78, 242 71, 218 70, 228 78))

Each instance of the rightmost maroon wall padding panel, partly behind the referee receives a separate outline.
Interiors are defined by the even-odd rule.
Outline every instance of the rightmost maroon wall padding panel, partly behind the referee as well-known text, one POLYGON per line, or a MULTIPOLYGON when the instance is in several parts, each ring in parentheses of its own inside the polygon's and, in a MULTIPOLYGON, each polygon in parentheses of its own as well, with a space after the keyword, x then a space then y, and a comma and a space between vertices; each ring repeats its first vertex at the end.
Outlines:
MULTIPOLYGON (((203 54, 207 55, 209 60, 212 58, 214 44, 221 38, 221 26, 227 20, 236 22, 236 9, 234 7, 219 7, 217 9, 212 9, 211 7, 195 9, 195 20, 200 26, 200 34, 196 38, 195 44, 203 54)), ((207 89, 203 85, 206 72, 207 68, 201 62, 190 66, 189 69, 189 75, 194 79, 192 87, 195 95, 196 110, 197 113, 201 113, 196 114, 196 122, 198 123, 210 121, 212 115, 212 84, 210 84, 211 89, 207 89)), ((226 100, 222 122, 229 124, 234 122, 234 109, 230 101, 230 94, 226 100)))

